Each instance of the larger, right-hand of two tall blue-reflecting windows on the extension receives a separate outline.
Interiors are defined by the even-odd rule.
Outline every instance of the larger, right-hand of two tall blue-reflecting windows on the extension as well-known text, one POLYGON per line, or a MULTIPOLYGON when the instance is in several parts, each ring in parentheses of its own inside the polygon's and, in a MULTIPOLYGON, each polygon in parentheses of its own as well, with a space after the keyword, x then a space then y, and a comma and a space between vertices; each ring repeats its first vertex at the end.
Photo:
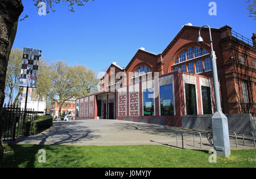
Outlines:
POLYGON ((160 86, 160 110, 161 116, 174 115, 174 96, 172 84, 160 86))

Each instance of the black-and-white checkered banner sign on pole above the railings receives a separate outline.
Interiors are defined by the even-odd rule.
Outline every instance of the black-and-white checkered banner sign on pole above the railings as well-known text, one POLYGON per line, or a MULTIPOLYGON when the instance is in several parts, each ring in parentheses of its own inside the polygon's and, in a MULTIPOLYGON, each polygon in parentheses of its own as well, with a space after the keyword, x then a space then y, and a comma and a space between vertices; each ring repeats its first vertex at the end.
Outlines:
POLYGON ((20 87, 36 88, 38 64, 41 50, 23 49, 22 69, 20 71, 20 87))

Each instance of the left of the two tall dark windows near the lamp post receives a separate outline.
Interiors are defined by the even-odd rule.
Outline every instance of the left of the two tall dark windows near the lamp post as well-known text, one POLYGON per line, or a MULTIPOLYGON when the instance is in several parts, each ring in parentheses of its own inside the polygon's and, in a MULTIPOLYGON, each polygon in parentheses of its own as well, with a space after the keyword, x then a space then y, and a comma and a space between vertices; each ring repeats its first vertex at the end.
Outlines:
POLYGON ((186 109, 187 115, 197 114, 196 86, 185 83, 186 109))

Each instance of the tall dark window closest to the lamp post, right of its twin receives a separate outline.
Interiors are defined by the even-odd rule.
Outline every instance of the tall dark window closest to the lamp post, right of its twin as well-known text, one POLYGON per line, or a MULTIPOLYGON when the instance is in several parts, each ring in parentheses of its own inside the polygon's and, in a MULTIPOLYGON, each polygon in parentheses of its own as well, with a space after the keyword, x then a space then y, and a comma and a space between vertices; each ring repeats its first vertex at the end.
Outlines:
POLYGON ((204 114, 212 114, 212 102, 210 100, 210 87, 201 86, 203 112, 204 114))

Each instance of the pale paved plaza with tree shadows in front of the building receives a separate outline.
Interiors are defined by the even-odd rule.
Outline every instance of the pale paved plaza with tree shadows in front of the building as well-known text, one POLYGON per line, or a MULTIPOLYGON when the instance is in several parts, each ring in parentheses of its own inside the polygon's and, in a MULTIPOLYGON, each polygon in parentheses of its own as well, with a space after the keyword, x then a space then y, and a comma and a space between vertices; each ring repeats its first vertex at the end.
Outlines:
MULTIPOLYGON (((195 136, 195 147, 193 145, 193 133, 195 131, 199 130, 119 120, 63 121, 53 122, 51 128, 39 135, 20 137, 17 143, 77 146, 151 144, 182 148, 181 135, 178 136, 178 146, 176 146, 176 134, 181 132, 184 137, 185 149, 200 150, 199 135, 195 136)), ((203 149, 211 149, 212 147, 210 147, 206 138, 207 131, 200 132, 203 149)), ((238 135, 237 138, 238 147, 236 147, 236 140, 233 135, 230 134, 230 147, 232 150, 254 148, 252 137, 246 136, 245 146, 243 146, 242 136, 238 135)))

